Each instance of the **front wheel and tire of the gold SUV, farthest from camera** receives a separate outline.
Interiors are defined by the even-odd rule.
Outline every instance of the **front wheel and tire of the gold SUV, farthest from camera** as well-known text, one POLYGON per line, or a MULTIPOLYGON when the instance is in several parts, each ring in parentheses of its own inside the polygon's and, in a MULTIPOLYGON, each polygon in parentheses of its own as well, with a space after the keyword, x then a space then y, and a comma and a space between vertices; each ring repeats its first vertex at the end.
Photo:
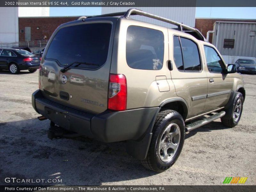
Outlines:
POLYGON ((235 127, 241 118, 242 111, 243 111, 243 104, 244 104, 244 97, 242 93, 237 92, 236 97, 234 99, 234 108, 233 108, 232 117, 230 119, 221 118, 221 123, 230 128, 235 127))

